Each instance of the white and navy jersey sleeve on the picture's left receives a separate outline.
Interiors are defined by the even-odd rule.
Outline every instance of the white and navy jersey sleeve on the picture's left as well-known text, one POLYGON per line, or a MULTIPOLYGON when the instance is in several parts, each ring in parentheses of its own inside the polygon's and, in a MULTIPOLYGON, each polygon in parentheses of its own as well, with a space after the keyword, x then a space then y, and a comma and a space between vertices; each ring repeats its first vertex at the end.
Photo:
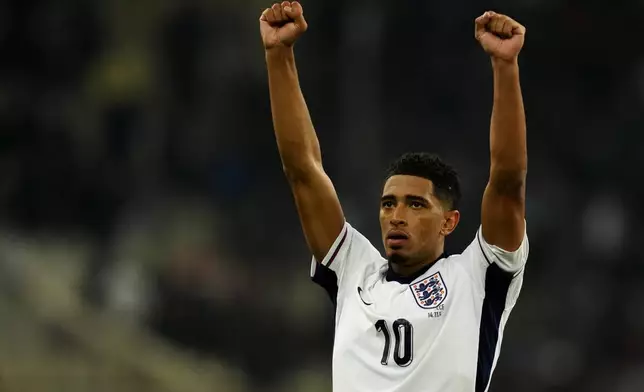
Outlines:
POLYGON ((337 304, 338 289, 364 269, 366 263, 380 259, 380 253, 348 222, 321 261, 311 260, 311 279, 322 286, 337 304))

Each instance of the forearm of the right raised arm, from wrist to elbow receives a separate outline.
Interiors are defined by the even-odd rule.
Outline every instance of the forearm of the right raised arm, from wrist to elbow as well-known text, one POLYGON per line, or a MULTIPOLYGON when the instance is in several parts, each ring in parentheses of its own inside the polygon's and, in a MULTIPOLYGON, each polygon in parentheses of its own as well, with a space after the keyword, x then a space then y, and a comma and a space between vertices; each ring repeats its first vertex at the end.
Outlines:
POLYGON ((492 60, 494 108, 490 127, 491 179, 522 185, 528 166, 526 121, 517 62, 492 60))

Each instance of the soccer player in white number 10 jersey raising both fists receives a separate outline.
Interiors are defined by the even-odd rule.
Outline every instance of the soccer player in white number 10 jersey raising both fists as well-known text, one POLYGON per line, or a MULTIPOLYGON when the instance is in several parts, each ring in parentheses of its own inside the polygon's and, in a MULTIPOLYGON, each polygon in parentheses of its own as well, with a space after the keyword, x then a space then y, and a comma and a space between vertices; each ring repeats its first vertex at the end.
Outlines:
POLYGON ((275 136, 313 254, 312 278, 336 304, 334 391, 486 391, 528 256, 517 61, 525 28, 494 12, 475 21, 491 57, 494 107, 490 176, 473 241, 444 255, 460 219, 457 174, 433 155, 407 153, 391 165, 382 192, 385 258, 345 221, 322 167, 293 54, 307 29, 302 6, 274 4, 260 29, 275 136))

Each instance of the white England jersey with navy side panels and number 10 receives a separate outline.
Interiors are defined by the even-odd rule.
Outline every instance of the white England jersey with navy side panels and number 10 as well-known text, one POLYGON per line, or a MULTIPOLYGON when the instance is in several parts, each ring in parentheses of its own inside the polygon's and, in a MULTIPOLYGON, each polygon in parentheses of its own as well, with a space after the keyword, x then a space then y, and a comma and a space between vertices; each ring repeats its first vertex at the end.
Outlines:
POLYGON ((527 257, 527 236, 507 252, 479 228, 462 254, 404 278, 345 223, 311 267, 336 304, 333 391, 487 391, 527 257))

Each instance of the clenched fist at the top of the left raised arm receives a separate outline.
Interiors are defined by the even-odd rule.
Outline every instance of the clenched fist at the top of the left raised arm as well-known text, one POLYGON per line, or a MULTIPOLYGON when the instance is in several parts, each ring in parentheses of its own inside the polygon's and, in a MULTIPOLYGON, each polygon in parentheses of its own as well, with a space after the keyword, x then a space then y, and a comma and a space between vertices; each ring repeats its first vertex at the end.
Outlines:
POLYGON ((293 46, 307 27, 304 10, 297 1, 275 3, 271 8, 264 10, 259 18, 259 28, 266 50, 293 46))

